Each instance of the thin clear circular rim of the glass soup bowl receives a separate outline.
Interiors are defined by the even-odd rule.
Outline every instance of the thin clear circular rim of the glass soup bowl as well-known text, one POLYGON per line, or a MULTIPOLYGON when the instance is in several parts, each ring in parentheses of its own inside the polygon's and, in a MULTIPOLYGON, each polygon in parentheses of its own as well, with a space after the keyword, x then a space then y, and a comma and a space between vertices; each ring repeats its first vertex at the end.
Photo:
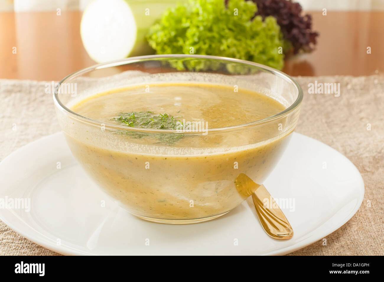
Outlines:
MULTIPOLYGON (((147 128, 140 128, 140 127, 129 127, 125 125, 117 125, 117 124, 110 124, 107 122, 102 122, 99 120, 91 119, 89 117, 85 117, 83 115, 80 115, 76 112, 73 112, 72 110, 68 109, 63 103, 61 103, 59 97, 58 97, 58 89, 60 89, 60 86, 62 83, 65 83, 67 80, 70 80, 72 78, 75 78, 76 76, 80 74, 87 73, 92 70, 96 69, 103 69, 103 68, 109 68, 109 67, 115 67, 115 66, 121 66, 124 64, 129 64, 129 63, 136 63, 139 61, 144 61, 144 60, 149 60, 149 59, 158 59, 158 58, 201 58, 201 59, 216 59, 220 61, 227 61, 227 62, 235 62, 235 63, 242 63, 242 64, 248 64, 250 66, 256 66, 260 69, 263 69, 263 71, 267 71, 269 73, 272 73, 276 76, 278 76, 281 79, 284 79, 285 81, 290 82, 293 84, 297 91, 298 91, 298 96, 295 102, 285 110, 275 114, 271 115, 269 117, 266 117, 264 119, 260 120, 255 120, 252 122, 247 122, 245 124, 238 124, 238 125, 231 125, 227 127, 217 127, 217 128, 212 128, 212 129, 207 129, 207 132, 216 132, 216 131, 225 131, 225 130, 233 130, 233 129, 240 129, 240 128, 248 128, 252 127, 255 125, 259 125, 262 123, 269 122, 270 120, 275 120, 279 119, 280 117, 284 117, 291 112, 293 112, 295 109, 297 109, 301 101, 303 100, 303 89, 301 89, 300 85, 293 79, 291 76, 288 74, 283 73, 282 71, 279 71, 277 69, 265 66, 263 64, 258 64, 258 63, 253 63, 251 61, 245 61, 245 60, 240 60, 240 59, 233 59, 233 58, 227 58, 227 57, 220 57, 220 56, 210 56, 210 55, 192 55, 192 54, 163 54, 163 55, 148 55, 148 56, 137 56, 137 57, 130 57, 130 58, 125 58, 125 59, 118 59, 114 61, 109 61, 106 63, 102 64, 95 64, 93 66, 90 66, 88 68, 83 68, 78 71, 75 71, 74 73, 69 74, 65 78, 63 78, 60 82, 59 85, 55 87, 55 91, 53 92, 53 100, 55 102, 55 105, 63 111, 65 114, 70 115, 71 117, 74 117, 76 119, 79 119, 85 123, 100 126, 101 124, 104 124, 105 128, 109 129, 115 129, 115 130, 127 130, 129 129, 130 131, 137 131, 137 132, 146 132, 146 133, 179 133, 180 131, 177 130, 168 130, 168 129, 147 129, 147 128)), ((196 134, 196 132, 181 132, 182 134, 196 134)))

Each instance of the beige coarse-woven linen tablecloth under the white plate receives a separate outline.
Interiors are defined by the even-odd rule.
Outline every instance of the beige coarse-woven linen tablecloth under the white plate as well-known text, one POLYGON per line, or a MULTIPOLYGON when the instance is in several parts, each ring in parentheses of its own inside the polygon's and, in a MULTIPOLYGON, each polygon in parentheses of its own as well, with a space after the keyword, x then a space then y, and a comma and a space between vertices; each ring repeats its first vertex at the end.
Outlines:
MULTIPOLYGON (((297 77, 304 101, 296 132, 335 148, 356 165, 365 196, 348 223, 292 255, 384 254, 384 77, 297 77), (315 81, 340 83, 340 96, 309 94, 315 81), (370 124, 371 130, 367 130, 370 124), (367 205, 370 201, 371 206, 367 205)), ((38 81, 0 80, 0 160, 21 146, 59 130, 51 94, 38 81), (16 124, 17 130, 12 130, 16 124)), ((0 221, 0 255, 55 255, 0 221)))

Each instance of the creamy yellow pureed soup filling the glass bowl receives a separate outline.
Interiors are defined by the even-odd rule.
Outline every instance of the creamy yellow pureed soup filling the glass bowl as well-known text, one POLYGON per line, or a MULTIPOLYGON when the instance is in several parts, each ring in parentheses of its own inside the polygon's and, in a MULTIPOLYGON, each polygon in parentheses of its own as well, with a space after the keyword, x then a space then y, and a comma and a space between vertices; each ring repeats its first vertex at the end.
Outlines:
POLYGON ((245 124, 284 109, 271 97, 228 86, 134 86, 88 97, 71 110, 127 127, 182 131, 201 122, 201 132, 144 134, 127 128, 114 133, 119 146, 111 149, 88 143, 93 137, 88 131, 66 137, 88 173, 131 213, 152 219, 208 218, 230 211, 253 193, 235 184, 238 175, 262 184, 291 131, 279 131, 277 122, 226 134, 207 134, 207 127, 245 124))

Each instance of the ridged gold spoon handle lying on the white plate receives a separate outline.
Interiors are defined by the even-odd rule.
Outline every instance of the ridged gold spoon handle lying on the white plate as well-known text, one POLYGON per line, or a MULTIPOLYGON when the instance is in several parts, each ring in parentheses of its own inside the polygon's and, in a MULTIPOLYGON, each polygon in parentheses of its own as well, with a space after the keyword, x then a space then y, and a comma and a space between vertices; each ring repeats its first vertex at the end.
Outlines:
POLYGON ((293 236, 293 229, 285 217, 284 213, 275 203, 272 196, 260 185, 252 194, 252 200, 255 204, 257 216, 265 232, 275 239, 290 239, 293 236), (264 199, 270 201, 269 206, 264 205, 264 199))

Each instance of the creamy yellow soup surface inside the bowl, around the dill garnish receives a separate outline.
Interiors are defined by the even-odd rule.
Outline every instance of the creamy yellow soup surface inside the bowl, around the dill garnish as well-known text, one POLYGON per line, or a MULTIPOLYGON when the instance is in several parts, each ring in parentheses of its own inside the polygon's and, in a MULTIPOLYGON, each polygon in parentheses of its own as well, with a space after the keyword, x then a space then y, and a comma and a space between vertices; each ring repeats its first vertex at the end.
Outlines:
POLYGON ((120 112, 149 110, 155 114, 167 113, 191 122, 206 121, 209 128, 245 124, 284 109, 276 100, 257 92, 235 92, 234 87, 209 84, 132 87, 101 93, 72 107, 78 114, 109 123, 120 112))

